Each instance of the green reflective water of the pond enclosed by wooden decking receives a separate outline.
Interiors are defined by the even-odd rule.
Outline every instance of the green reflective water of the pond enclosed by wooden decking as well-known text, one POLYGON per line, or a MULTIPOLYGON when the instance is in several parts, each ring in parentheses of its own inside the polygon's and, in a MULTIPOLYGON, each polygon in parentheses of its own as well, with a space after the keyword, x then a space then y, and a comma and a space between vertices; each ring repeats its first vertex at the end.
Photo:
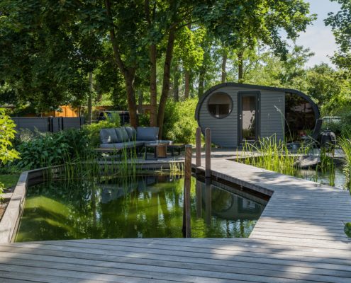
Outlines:
MULTIPOLYGON (((183 178, 52 181, 28 187, 16 241, 182 237, 183 178)), ((191 237, 248 237, 266 200, 191 179, 191 237)))

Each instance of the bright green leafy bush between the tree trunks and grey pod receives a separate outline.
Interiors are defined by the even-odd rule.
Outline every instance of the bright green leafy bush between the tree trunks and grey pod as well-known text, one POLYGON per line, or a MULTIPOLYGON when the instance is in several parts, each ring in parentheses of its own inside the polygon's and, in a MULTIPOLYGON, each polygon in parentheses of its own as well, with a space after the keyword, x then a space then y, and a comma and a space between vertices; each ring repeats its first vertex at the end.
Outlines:
POLYGON ((197 99, 188 99, 180 103, 168 101, 165 112, 164 138, 186 144, 195 143, 198 124, 194 113, 197 101, 197 99))

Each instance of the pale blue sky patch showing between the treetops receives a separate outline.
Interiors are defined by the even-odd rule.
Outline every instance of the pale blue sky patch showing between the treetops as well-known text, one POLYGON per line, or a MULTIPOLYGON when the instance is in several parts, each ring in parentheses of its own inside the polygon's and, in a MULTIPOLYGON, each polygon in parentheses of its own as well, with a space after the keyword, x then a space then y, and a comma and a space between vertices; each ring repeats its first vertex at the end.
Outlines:
POLYGON ((330 0, 306 0, 310 3, 311 13, 317 14, 317 20, 312 25, 308 25, 306 33, 301 33, 296 40, 297 45, 309 47, 315 53, 306 64, 307 67, 313 67, 321 62, 330 63, 329 56, 332 56, 338 46, 335 44, 334 35, 330 26, 325 26, 324 19, 328 17, 329 12, 338 12, 340 4, 330 0))

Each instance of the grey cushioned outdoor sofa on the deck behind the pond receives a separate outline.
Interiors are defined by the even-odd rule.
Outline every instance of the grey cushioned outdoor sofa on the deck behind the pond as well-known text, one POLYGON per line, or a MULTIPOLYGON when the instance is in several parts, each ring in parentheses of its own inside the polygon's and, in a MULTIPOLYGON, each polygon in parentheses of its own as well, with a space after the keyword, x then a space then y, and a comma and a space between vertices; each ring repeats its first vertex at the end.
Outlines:
POLYGON ((118 127, 110 129, 101 129, 100 131, 100 149, 140 149, 145 144, 155 142, 172 144, 173 141, 159 140, 159 127, 118 127))

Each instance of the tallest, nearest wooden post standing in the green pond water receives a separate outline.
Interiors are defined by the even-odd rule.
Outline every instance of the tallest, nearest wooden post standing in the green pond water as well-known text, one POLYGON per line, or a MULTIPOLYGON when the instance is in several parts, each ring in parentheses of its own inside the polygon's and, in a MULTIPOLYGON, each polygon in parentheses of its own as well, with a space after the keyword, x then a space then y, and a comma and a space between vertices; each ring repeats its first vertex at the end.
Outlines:
POLYGON ((185 238, 190 238, 191 145, 189 144, 185 146, 184 177, 183 233, 185 238))

